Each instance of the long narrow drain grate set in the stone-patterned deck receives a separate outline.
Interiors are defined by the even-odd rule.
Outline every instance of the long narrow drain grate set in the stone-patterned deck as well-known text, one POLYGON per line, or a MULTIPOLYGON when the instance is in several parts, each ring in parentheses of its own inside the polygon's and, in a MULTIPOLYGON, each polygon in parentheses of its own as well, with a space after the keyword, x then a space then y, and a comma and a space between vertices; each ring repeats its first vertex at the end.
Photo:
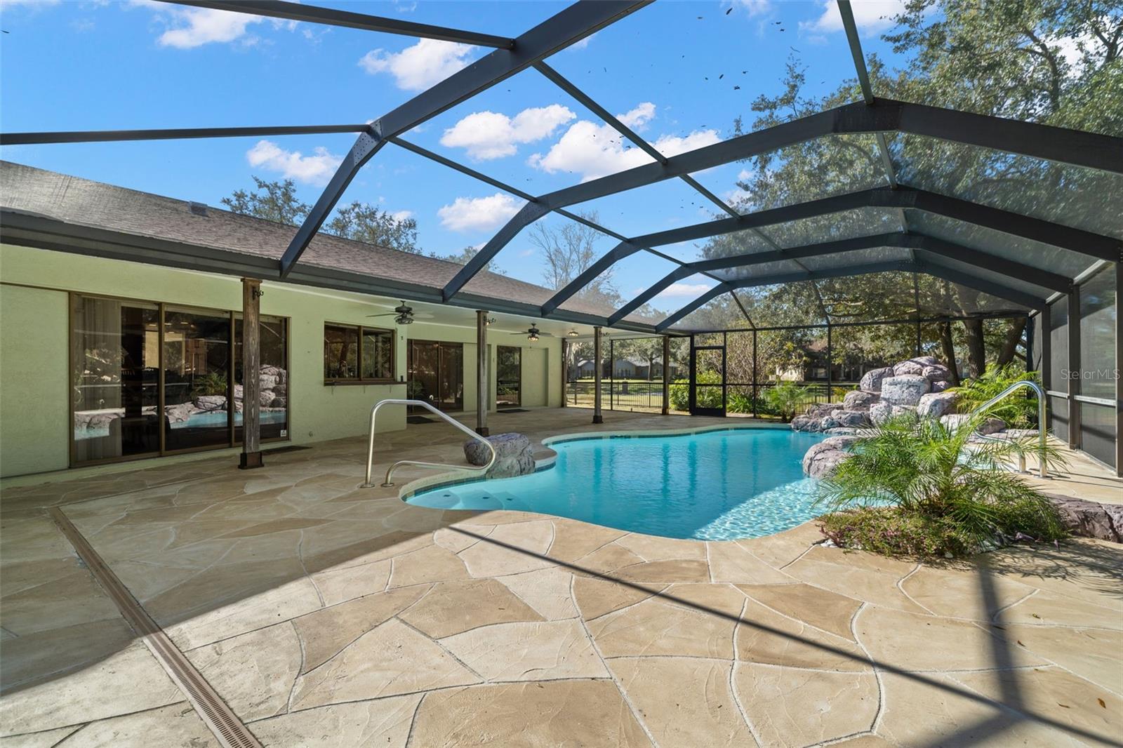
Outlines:
POLYGON ((148 615, 133 593, 126 589, 121 581, 117 578, 112 569, 101 559, 93 546, 79 532, 77 528, 57 507, 51 510, 51 517, 55 520, 58 529, 63 531, 66 539, 74 546, 79 558, 85 564, 90 573, 102 586, 121 615, 128 621, 133 630, 140 635, 148 650, 161 664, 168 677, 179 686, 180 691, 186 695, 188 701, 194 706, 203 722, 214 733, 218 741, 226 748, 262 748, 262 744, 253 736, 241 720, 226 705, 219 697, 214 688, 207 682, 202 674, 195 669, 180 648, 175 646, 171 637, 164 632, 148 615))

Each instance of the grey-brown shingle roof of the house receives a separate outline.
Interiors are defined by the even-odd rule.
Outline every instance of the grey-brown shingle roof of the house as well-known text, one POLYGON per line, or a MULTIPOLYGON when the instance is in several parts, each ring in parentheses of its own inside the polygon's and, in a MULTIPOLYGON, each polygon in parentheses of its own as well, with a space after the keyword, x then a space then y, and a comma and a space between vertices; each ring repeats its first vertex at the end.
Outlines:
MULTIPOLYGON (((296 232, 293 226, 208 206, 192 212, 185 200, 0 161, 0 208, 63 224, 140 237, 213 247, 280 261, 296 232)), ((328 234, 318 234, 301 264, 360 273, 416 285, 442 288, 460 265, 328 234)), ((540 305, 554 291, 497 273, 481 272, 467 293, 540 305)), ((613 310, 567 303, 574 311, 608 316, 613 310)))

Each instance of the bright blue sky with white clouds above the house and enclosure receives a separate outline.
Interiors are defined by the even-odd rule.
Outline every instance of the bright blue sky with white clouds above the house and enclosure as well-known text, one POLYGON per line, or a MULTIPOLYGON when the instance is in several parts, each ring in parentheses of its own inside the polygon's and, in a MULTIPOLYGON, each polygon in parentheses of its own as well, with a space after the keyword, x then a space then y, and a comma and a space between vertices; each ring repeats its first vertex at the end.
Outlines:
MULTIPOLYGON (((518 36, 564 8, 556 2, 321 2, 358 12, 518 36)), ((882 20, 897 0, 855 3, 867 52, 887 54, 882 20)), ((490 51, 404 36, 274 21, 147 1, 0 0, 0 127, 4 131, 307 125, 376 119, 490 51)), ((660 0, 547 62, 666 154, 751 122, 750 102, 775 94, 788 56, 807 66, 811 93, 852 77, 833 2, 660 0)), ((549 192, 646 162, 634 148, 535 71, 442 113, 405 136, 530 193, 549 192)), ((354 137, 301 136, 6 147, 4 159, 218 206, 250 175, 293 179, 314 202, 354 137)), ((719 195, 743 164, 696 175, 719 195)), ((418 221, 426 252, 481 245, 521 201, 387 146, 345 201, 418 221)), ((575 207, 636 235, 694 224, 715 208, 670 181, 575 207)), ((550 224, 565 219, 547 218, 550 224)), ((599 247, 615 241, 605 237, 599 247)), ((688 261, 694 245, 666 248, 688 261)), ((510 275, 541 282, 523 231, 500 255, 510 275)), ((646 253, 615 272, 626 299, 672 268, 646 253)), ((676 309, 706 279, 657 298, 676 309)))

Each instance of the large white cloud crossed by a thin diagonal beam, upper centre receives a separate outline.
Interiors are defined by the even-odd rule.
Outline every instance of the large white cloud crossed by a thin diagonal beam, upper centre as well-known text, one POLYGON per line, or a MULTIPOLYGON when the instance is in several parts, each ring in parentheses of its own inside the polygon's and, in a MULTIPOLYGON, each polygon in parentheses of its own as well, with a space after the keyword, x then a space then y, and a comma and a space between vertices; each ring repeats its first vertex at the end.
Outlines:
MULTIPOLYGON (((631 126, 646 125, 655 117, 655 104, 643 102, 618 117, 631 126)), ((651 145, 665 156, 674 156, 720 140, 718 131, 710 129, 694 130, 683 137, 664 135, 651 142, 651 145)), ((527 163, 550 174, 556 172, 581 174, 581 180, 587 182, 652 161, 654 158, 626 142, 608 125, 597 125, 583 119, 570 125, 546 155, 535 154, 527 163)))

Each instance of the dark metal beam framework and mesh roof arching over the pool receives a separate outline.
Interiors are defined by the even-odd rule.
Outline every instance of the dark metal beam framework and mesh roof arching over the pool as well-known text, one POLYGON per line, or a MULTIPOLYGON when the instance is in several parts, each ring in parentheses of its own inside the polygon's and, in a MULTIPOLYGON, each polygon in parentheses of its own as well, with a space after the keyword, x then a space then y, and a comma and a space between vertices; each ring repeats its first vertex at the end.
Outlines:
MULTIPOLYGON (((1123 194, 1123 138, 1038 122, 1004 119, 876 97, 861 52, 850 2, 839 0, 861 100, 814 115, 738 135, 713 145, 667 156, 636 130, 610 113, 581 88, 545 61, 592 34, 641 11, 649 2, 581 0, 515 38, 412 24, 293 2, 255 0, 173 0, 180 4, 345 26, 421 38, 494 47, 475 63, 421 92, 402 106, 366 124, 325 126, 236 127, 159 130, 6 133, 0 144, 51 144, 167 138, 216 138, 293 134, 357 133, 355 144, 325 188, 275 267, 258 267, 263 279, 298 280, 301 257, 359 170, 387 144, 466 174, 524 202, 503 226, 448 280, 438 299, 455 305, 486 304, 466 291, 468 282, 496 261, 520 231, 548 215, 577 221, 610 237, 615 245, 558 290, 540 308, 542 319, 615 326, 642 332, 695 329, 692 313, 722 299, 736 302, 754 326, 739 292, 810 284, 820 317, 830 321, 820 283, 831 279, 877 275, 886 295, 900 298, 902 316, 949 313, 921 302, 920 277, 938 279, 980 292, 977 313, 1026 314, 1049 299, 1070 293, 1077 279, 1104 262, 1120 262, 1123 218, 1115 200, 1123 194), (403 137, 411 129, 523 71, 533 69, 545 83, 556 85, 594 112, 623 139, 642 150, 649 162, 548 192, 531 194, 493 179, 403 137), (784 204, 734 203, 703 184, 707 170, 763 154, 785 157, 786 149, 811 145, 824 149, 855 149, 877 167, 856 173, 849 190, 825 193, 793 191, 784 204), (1016 162, 1031 176, 1049 170, 1046 200, 1015 188, 979 184, 956 192, 939 179, 938 168, 951 157, 971 159, 985 174, 988 165, 1016 162), (627 191, 678 180, 716 215, 693 226, 627 236, 579 212, 582 206, 627 191), (949 194, 949 192, 956 192, 949 194), (711 241, 703 259, 687 261, 663 248, 699 239, 711 241), (649 261, 670 270, 622 307, 596 309, 586 302, 578 311, 567 307, 599 276, 620 263, 649 261), (645 304, 674 283, 702 279, 707 290, 666 314, 651 316, 645 304)), ((673 55, 672 55, 673 56, 673 55)), ((840 61, 842 63, 842 61, 840 61)), ((825 153, 825 152, 824 152, 825 153)), ((439 185, 438 185, 439 186, 439 185)), ((272 261, 271 261, 272 262, 272 261)), ((222 267, 214 267, 223 272, 222 267)), ((228 272, 228 271, 227 271, 228 272)), ((374 280, 375 276, 372 276, 374 280)), ((403 298, 421 299, 408 284, 378 279, 378 286, 403 298)), ((834 295, 844 294, 836 284, 834 295)), ((830 295, 830 294, 828 294, 830 295)), ((508 300, 493 300, 503 307, 508 300)), ((514 311, 514 310, 512 310, 514 311)), ((522 310, 518 310, 522 311, 522 310)))

